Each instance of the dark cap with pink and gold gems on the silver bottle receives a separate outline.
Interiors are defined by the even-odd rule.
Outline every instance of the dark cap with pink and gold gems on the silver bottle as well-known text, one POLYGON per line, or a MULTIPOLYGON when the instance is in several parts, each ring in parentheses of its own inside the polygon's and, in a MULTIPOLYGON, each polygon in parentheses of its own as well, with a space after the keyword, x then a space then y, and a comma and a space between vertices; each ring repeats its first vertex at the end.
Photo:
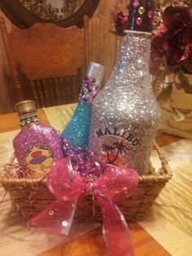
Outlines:
POLYGON ((151 32, 155 12, 155 0, 130 0, 128 29, 151 32))

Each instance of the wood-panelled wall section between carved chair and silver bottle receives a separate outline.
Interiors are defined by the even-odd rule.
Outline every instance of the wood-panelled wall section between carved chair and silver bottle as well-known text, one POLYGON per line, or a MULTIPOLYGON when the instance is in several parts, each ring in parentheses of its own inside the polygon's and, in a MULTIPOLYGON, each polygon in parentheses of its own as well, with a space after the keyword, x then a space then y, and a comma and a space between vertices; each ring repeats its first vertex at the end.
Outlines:
POLYGON ((123 9, 128 2, 125 0, 100 0, 91 19, 91 55, 93 61, 105 65, 103 83, 107 82, 111 70, 116 64, 116 57, 123 39, 111 33, 111 30, 114 30, 111 12, 115 8, 123 9))

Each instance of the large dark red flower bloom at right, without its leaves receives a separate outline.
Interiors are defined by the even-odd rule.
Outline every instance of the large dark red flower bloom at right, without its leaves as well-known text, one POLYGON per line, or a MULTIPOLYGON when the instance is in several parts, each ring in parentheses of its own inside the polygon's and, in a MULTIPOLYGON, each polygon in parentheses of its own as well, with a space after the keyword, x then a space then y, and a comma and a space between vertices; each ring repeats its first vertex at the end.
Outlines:
POLYGON ((167 7, 162 15, 164 27, 152 39, 152 49, 165 56, 168 66, 179 66, 192 57, 192 9, 167 7))

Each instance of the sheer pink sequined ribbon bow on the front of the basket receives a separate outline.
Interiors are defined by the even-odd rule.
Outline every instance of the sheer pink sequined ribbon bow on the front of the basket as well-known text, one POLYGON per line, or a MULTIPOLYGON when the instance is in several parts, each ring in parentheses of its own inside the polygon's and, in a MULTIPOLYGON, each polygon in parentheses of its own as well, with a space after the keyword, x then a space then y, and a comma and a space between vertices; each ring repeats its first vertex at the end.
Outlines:
POLYGON ((72 167, 71 157, 56 162, 46 177, 47 187, 57 200, 30 219, 28 227, 68 235, 81 196, 92 194, 103 212, 103 236, 113 256, 132 256, 129 229, 113 201, 130 196, 137 188, 137 171, 104 165, 103 174, 94 181, 85 179, 72 167))

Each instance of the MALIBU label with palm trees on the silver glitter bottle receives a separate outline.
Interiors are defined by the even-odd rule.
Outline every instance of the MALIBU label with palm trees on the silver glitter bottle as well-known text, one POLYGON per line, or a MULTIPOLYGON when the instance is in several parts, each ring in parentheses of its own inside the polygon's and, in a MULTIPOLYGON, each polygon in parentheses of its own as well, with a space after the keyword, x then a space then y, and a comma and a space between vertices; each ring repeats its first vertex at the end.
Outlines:
POLYGON ((101 148, 101 161, 108 164, 127 166, 130 155, 139 147, 139 139, 127 130, 106 127, 96 130, 96 136, 101 148))

